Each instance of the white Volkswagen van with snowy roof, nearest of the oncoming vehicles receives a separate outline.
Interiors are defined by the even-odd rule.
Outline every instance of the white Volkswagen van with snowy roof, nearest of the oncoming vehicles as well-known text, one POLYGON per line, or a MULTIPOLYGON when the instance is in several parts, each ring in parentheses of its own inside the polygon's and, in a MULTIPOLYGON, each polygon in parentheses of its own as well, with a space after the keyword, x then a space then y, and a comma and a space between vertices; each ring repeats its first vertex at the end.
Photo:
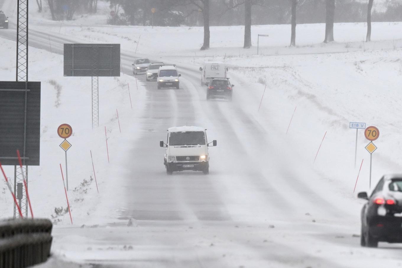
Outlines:
POLYGON ((167 174, 183 170, 209 173, 208 147, 216 146, 216 140, 208 143, 205 128, 196 126, 168 128, 166 143, 161 140, 159 145, 166 148, 164 165, 167 174))

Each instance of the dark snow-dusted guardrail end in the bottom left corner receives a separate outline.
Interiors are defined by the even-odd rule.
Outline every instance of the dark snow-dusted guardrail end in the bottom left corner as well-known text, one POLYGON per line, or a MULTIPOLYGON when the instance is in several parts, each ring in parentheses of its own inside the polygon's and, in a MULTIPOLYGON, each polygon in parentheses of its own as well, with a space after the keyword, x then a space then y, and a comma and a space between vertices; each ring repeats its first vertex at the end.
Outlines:
POLYGON ((52 227, 48 219, 0 221, 0 268, 24 268, 46 262, 52 227))

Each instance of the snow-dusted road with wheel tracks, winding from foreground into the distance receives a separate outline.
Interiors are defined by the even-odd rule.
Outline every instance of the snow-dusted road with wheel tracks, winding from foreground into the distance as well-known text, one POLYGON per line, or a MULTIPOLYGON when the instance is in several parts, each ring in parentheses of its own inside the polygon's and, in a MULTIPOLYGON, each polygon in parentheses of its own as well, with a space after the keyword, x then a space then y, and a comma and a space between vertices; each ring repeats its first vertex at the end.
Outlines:
MULTIPOLYGON (((0 2, 1 6, 1 2, 0 2)), ((0 37, 15 40, 15 24, 0 37), (14 30, 12 30, 14 29, 14 30)), ((30 29, 29 43, 62 54, 63 43, 92 42, 30 29), (51 49, 49 45, 51 39, 51 49)), ((133 49, 122 47, 125 74, 133 49)), ((174 57, 156 58, 175 63, 174 57)), ((234 100, 206 101, 198 67, 178 64, 180 89, 156 89, 138 75, 146 95, 142 135, 124 148, 116 179, 121 207, 107 224, 55 225, 53 258, 40 267, 398 267, 400 245, 359 245, 361 202, 342 198, 311 159, 263 117, 248 113, 253 87, 231 77, 234 100), (209 150, 210 173, 166 175, 165 140, 171 126, 203 126, 217 147, 209 150), (127 226, 130 223, 130 226, 127 226), (96 265, 92 265, 96 264, 96 265)), ((232 72, 235 74, 235 72, 232 72)), ((135 90, 132 91, 135 96, 135 90)), ((269 97, 269 95, 267 96, 269 97)), ((115 200, 110 200, 113 204, 115 200)))

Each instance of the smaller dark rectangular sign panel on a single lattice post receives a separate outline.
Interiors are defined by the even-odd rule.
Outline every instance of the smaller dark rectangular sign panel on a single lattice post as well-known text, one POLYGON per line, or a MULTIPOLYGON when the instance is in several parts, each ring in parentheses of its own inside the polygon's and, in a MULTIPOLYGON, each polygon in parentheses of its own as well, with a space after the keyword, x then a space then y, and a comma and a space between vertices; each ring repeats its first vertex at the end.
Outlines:
POLYGON ((120 44, 64 44, 64 76, 120 76, 120 44))

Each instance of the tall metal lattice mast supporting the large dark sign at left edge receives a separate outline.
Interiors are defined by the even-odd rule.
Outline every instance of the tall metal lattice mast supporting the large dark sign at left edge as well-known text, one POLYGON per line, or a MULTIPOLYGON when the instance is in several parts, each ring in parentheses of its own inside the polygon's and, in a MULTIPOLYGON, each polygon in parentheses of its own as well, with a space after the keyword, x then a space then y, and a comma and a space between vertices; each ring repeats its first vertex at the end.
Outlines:
MULTIPOLYGON (((16 51, 16 81, 25 82, 25 122, 27 122, 27 85, 28 85, 28 0, 18 0, 17 2, 17 51, 16 51)), ((14 166, 14 195, 21 204, 21 212, 23 216, 28 216, 28 202, 26 189, 22 189, 22 193, 18 192, 19 183, 26 179, 28 187, 28 169, 25 166, 25 139, 27 133, 27 124, 24 126, 24 148, 23 148, 23 171, 20 167, 14 166), (24 167, 25 166, 25 167, 24 167), (23 175, 25 173, 25 176, 23 175)), ((20 184, 21 185, 21 184, 20 184)), ((14 204, 14 218, 18 218, 19 213, 14 204)))

